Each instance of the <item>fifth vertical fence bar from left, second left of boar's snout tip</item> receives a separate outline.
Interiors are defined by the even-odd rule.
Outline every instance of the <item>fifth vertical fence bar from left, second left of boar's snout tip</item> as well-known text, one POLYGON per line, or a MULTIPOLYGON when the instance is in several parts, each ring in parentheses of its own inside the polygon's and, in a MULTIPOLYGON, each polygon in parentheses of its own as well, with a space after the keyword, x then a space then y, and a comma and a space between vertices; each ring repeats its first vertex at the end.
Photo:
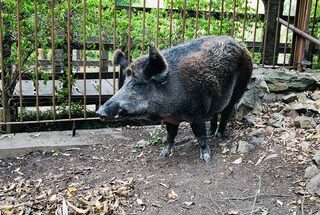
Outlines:
POLYGON ((71 44, 70 44, 70 0, 67 0, 67 60, 68 60, 68 105, 69 105, 69 119, 71 119, 71 44))

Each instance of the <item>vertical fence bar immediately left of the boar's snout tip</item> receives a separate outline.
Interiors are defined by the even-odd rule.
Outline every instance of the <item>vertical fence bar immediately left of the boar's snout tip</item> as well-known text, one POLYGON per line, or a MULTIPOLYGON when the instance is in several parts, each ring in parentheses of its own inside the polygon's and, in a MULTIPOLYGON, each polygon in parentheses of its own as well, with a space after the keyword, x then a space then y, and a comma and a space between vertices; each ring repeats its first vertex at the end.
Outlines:
POLYGON ((83 0, 83 117, 87 118, 87 0, 83 0))

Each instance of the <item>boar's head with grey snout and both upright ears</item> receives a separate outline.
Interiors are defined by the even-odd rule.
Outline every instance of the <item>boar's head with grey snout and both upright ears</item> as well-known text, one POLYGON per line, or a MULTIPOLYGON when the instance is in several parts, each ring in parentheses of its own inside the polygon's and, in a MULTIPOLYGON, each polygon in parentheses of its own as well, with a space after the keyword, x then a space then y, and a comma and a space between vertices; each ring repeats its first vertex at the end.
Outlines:
MULTIPOLYGON (((167 81, 167 63, 155 48, 149 48, 149 55, 143 56, 128 64, 122 51, 114 54, 115 65, 125 68, 125 82, 97 111, 101 120, 105 121, 118 115, 120 117, 156 117, 157 96, 167 81)), ((159 99, 159 98, 158 98, 159 99)), ((160 100, 160 99, 159 99, 160 100)))

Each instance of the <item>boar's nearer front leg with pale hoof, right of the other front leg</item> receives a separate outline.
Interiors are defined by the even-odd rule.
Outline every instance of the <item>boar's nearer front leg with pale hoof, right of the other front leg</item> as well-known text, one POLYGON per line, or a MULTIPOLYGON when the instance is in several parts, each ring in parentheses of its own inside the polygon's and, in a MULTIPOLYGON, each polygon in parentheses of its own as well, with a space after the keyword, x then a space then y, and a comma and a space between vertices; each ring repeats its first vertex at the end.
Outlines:
POLYGON ((206 163, 211 161, 211 149, 207 142, 206 126, 204 122, 191 123, 191 128, 200 145, 200 158, 206 163))

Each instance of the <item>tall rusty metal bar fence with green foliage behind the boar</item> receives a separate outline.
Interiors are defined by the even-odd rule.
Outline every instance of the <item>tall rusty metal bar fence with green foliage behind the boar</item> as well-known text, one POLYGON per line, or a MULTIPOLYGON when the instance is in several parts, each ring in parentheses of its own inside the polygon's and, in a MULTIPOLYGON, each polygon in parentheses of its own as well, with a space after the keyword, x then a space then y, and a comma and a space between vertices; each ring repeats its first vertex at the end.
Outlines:
POLYGON ((0 0, 0 125, 97 120, 122 82, 117 48, 135 59, 149 44, 230 35, 261 66, 320 68, 319 0, 118 2, 0 0))

